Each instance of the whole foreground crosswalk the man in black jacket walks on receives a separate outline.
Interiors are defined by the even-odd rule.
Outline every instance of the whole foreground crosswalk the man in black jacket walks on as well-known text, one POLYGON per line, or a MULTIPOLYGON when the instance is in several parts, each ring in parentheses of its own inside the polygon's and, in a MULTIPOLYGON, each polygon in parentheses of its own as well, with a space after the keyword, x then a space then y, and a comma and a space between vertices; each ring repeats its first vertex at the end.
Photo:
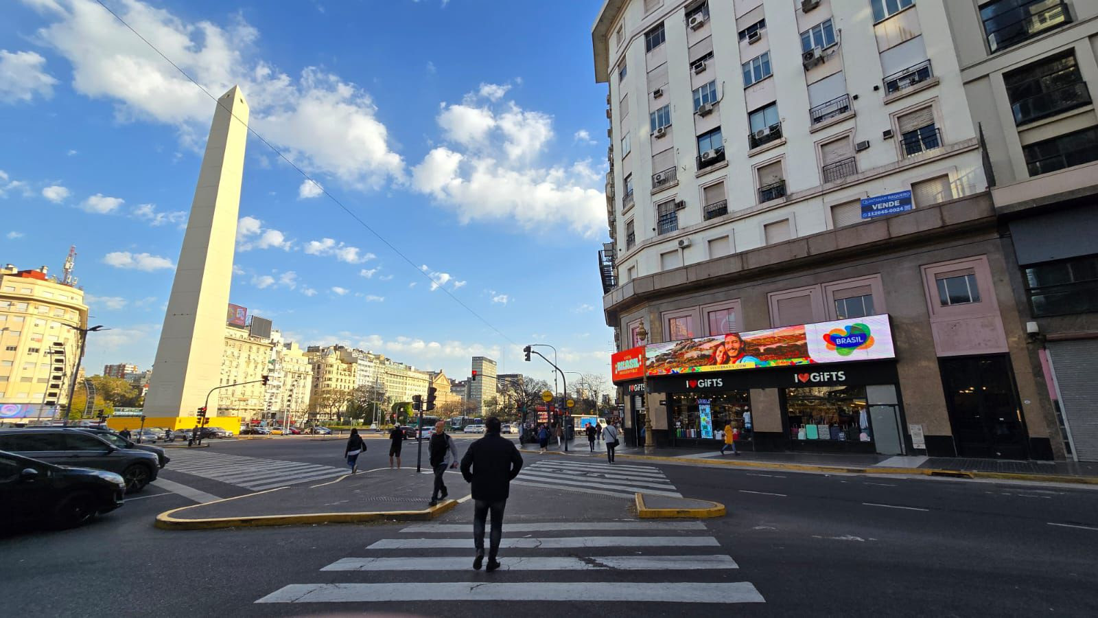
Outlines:
POLYGON ((384 603, 407 611, 408 603, 435 600, 765 603, 753 584, 737 581, 739 564, 701 521, 523 521, 504 523, 503 533, 496 573, 472 571, 471 525, 430 522, 324 566, 316 583, 290 584, 256 603, 358 604, 356 611, 384 603), (557 536, 579 530, 597 536, 557 536), (379 583, 385 577, 401 585, 379 583))

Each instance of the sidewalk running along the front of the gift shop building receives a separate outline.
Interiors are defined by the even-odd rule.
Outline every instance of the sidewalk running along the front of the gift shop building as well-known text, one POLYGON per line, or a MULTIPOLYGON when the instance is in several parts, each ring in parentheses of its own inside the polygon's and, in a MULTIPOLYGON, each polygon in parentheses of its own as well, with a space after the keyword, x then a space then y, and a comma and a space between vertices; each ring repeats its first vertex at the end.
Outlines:
MULTIPOLYGON (((591 453, 587 441, 570 441, 567 454, 604 457, 606 445, 595 442, 591 453)), ((524 451, 536 451, 537 444, 526 444, 524 451)), ((550 452, 561 452, 554 442, 550 452)), ((752 452, 740 448, 721 455, 717 450, 658 446, 618 446, 617 456, 634 460, 695 463, 732 467, 771 467, 804 472, 836 472, 862 474, 923 474, 928 476, 960 476, 966 478, 1004 478, 1015 481, 1042 481, 1050 483, 1083 483, 1098 485, 1098 463, 976 460, 963 457, 892 456, 863 453, 794 453, 752 452)))

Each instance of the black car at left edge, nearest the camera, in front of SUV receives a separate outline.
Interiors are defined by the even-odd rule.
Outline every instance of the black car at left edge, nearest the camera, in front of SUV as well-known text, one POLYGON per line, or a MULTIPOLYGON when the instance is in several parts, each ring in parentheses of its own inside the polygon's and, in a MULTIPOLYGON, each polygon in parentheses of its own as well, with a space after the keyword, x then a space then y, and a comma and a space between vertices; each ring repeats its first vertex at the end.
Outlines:
POLYGON ((122 506, 126 484, 113 472, 53 465, 0 451, 0 526, 79 526, 122 506))

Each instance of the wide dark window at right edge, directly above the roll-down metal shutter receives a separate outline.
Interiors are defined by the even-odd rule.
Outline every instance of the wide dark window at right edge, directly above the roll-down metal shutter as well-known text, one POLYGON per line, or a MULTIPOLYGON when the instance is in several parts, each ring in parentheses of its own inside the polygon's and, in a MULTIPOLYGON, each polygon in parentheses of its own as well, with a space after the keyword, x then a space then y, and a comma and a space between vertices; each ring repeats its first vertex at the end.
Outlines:
POLYGON ((1098 312, 1098 255, 1026 266, 1033 316, 1098 312))

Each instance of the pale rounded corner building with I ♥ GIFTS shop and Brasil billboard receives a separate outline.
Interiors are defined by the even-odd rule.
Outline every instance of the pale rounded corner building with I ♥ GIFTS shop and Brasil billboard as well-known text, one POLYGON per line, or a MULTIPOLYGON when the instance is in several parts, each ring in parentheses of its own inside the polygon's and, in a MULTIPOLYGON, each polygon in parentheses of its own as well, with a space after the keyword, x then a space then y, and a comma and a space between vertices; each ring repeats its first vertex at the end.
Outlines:
POLYGON ((619 351, 649 344, 616 379, 627 441, 650 415, 660 445, 731 420, 757 450, 1064 456, 948 22, 941 0, 605 2, 604 310, 619 351), (834 329, 861 347, 822 347, 834 329), (728 333, 749 360, 701 361, 728 333))

